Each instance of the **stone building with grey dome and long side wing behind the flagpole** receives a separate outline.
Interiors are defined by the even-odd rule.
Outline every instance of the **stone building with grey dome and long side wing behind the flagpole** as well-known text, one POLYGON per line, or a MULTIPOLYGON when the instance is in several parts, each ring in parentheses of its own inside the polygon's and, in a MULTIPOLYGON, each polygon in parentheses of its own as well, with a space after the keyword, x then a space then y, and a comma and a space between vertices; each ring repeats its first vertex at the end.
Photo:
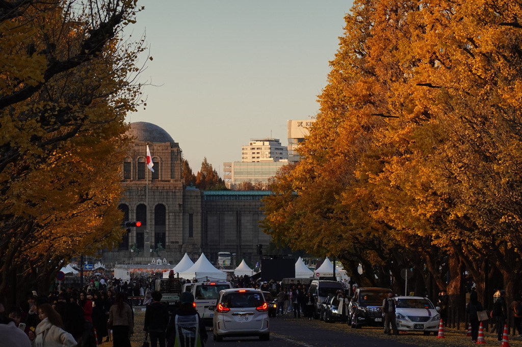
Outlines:
POLYGON ((135 141, 123 163, 124 188, 120 209, 125 221, 141 221, 131 228, 117 250, 102 252, 105 263, 149 264, 167 259, 176 264, 185 253, 201 252, 217 263, 218 252, 235 254, 255 263, 257 244, 270 237, 259 228, 264 218, 263 196, 270 192, 200 191, 185 187, 182 150, 171 135, 152 123, 133 122, 135 141), (147 168, 147 144, 154 171, 147 168))

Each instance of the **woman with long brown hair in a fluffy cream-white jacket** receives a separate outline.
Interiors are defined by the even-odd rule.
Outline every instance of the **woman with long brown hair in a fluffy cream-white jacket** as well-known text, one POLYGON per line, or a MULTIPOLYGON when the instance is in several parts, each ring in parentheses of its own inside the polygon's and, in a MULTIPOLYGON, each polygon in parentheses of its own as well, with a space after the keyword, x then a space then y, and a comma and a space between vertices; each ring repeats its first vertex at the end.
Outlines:
POLYGON ((63 329, 60 314, 49 304, 38 306, 38 318, 41 322, 36 327, 34 347, 75 347, 72 334, 63 329))

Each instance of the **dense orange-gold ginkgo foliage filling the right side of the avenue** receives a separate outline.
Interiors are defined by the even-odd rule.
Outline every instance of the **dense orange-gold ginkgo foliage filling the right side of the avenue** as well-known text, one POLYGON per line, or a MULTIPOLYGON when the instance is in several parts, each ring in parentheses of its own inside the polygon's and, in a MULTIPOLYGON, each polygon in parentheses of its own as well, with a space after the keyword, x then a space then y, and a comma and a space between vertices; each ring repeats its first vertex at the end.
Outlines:
POLYGON ((436 269, 445 287, 438 265, 449 257, 476 281, 488 258, 512 285, 522 269, 519 21, 515 1, 356 2, 303 160, 266 201, 267 231, 361 263, 374 283, 375 271, 414 267, 426 281, 436 269))

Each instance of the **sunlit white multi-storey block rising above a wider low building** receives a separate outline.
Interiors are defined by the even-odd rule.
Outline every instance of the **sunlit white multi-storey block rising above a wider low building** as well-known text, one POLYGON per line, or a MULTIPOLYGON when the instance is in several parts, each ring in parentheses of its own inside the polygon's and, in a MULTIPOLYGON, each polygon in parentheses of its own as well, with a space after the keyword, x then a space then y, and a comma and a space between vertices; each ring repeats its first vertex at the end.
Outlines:
POLYGON ((279 162, 287 158, 288 149, 279 139, 251 139, 248 145, 242 146, 243 163, 279 162))

